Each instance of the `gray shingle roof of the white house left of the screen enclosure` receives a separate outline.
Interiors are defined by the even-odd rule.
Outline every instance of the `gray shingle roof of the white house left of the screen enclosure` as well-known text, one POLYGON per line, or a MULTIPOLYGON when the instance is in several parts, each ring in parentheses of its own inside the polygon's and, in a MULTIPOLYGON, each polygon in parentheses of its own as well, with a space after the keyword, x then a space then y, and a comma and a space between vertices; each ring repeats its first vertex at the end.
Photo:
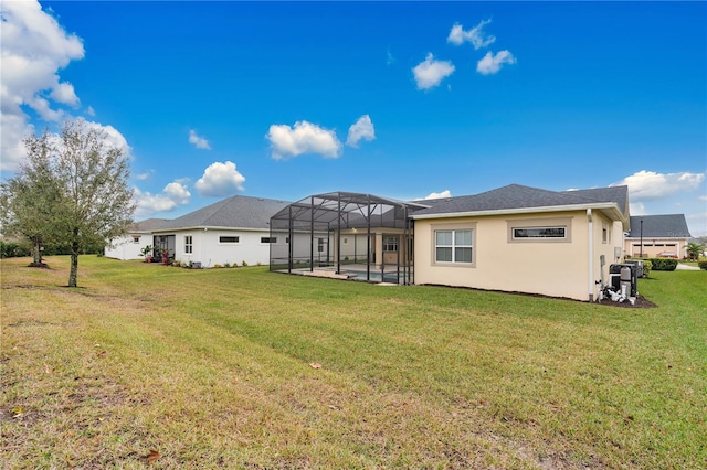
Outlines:
POLYGON ((167 222, 159 232, 192 227, 270 228, 270 217, 289 204, 263 197, 234 195, 167 222))

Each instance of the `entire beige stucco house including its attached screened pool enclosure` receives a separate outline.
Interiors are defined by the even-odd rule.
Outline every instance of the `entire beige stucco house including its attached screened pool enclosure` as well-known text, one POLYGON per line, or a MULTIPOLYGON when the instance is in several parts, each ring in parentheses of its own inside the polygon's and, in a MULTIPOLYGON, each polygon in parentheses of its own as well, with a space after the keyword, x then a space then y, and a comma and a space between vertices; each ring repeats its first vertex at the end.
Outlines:
POLYGON ((414 202, 320 194, 283 209, 271 221, 273 233, 310 233, 305 246, 271 257, 271 270, 321 269, 318 259, 307 256, 317 253, 317 237, 326 233, 326 243, 333 245, 326 263, 339 276, 352 271, 363 278, 356 266, 362 263, 369 281, 591 301, 601 282, 609 281, 609 265, 622 256, 629 217, 626 186, 555 192, 510 184, 476 195, 414 202), (347 238, 362 245, 358 254, 355 248, 354 261, 346 254, 351 249, 345 247, 347 238))

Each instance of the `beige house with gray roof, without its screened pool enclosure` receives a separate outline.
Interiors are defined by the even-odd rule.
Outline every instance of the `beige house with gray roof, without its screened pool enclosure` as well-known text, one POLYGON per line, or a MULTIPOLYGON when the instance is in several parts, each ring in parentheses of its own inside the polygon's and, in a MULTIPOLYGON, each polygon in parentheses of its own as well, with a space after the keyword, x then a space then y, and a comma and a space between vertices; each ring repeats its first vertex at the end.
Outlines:
POLYGON ((629 229, 626 186, 518 184, 414 212, 415 284, 592 301, 629 229))

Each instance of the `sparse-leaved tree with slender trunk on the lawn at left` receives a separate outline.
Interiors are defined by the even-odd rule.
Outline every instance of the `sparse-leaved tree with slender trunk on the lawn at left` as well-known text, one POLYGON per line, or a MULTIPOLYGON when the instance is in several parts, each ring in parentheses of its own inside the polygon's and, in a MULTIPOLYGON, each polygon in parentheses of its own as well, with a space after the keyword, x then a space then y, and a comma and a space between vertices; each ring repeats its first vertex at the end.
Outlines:
POLYGON ((82 250, 105 245, 133 224, 128 159, 83 119, 65 122, 60 136, 30 136, 24 147, 27 161, 1 186, 3 231, 67 244, 68 286, 76 287, 82 250))

